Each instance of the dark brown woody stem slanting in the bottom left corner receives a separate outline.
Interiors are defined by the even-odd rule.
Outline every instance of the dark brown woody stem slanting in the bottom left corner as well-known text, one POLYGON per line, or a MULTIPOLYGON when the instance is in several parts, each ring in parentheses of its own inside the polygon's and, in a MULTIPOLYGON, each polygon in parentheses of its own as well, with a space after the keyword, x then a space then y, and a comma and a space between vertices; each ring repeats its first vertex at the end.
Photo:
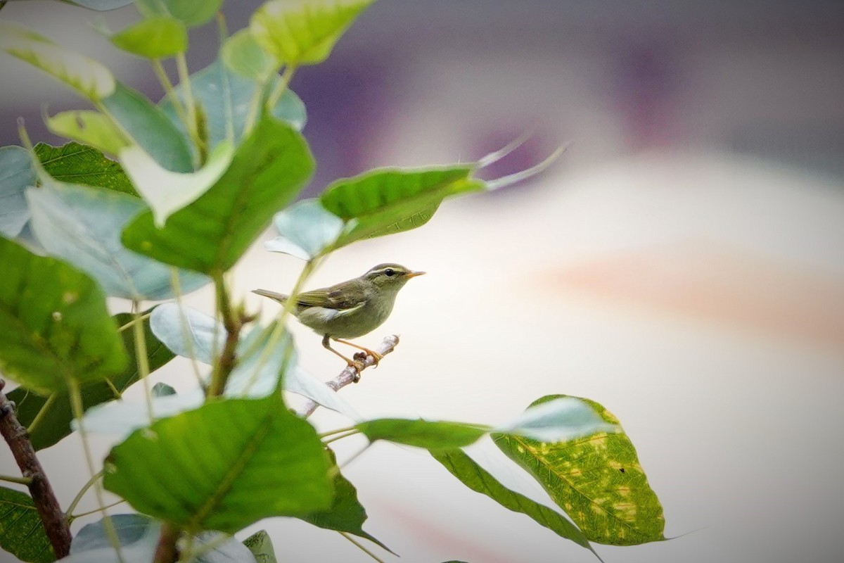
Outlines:
POLYGON ((12 403, 3 393, 5 385, 6 382, 0 379, 0 434, 12 450, 14 460, 18 463, 24 479, 31 479, 27 487, 32 501, 44 524, 44 531, 50 539, 53 553, 57 559, 61 559, 70 553, 72 539, 70 527, 53 493, 50 481, 47 480, 44 468, 41 467, 38 457, 35 457, 35 448, 32 447, 30 436, 15 416, 12 403))

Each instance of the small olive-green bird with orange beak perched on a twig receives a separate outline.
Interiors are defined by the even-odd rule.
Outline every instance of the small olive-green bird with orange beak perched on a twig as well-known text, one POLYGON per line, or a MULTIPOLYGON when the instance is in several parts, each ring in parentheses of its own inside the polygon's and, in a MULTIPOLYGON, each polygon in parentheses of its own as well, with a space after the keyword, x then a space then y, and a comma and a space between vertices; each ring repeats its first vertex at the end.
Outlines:
MULTIPOLYGON (((425 272, 408 270, 399 264, 378 264, 360 278, 300 293, 296 297, 296 306, 292 312, 299 322, 322 334, 323 346, 360 371, 360 363, 349 360, 333 349, 329 339, 363 350, 366 355, 375 358, 378 365, 383 356, 375 350, 341 338, 358 338, 380 327, 392 312, 398 290, 404 287, 408 279, 423 273, 425 272)), ((289 295, 268 290, 252 290, 252 293, 269 297, 282 305, 289 298, 289 295)))

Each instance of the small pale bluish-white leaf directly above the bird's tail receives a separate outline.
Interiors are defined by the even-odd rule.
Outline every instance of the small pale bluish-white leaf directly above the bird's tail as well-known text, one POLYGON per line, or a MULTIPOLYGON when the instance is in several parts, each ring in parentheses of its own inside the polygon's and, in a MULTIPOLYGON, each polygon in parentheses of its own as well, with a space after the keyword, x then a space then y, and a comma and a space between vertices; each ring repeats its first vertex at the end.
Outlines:
POLYGON ((264 243, 269 252, 284 252, 309 260, 330 248, 343 230, 343 220, 329 213, 318 199, 305 199, 273 217, 279 236, 264 243))

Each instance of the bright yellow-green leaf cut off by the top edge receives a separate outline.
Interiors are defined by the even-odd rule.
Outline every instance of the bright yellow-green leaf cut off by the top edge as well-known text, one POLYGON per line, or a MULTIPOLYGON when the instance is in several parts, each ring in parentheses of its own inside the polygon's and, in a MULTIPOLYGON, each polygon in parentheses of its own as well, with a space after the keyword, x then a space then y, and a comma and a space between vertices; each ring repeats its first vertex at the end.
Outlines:
POLYGON ((317 64, 375 0, 270 0, 252 14, 255 39, 280 64, 317 64))

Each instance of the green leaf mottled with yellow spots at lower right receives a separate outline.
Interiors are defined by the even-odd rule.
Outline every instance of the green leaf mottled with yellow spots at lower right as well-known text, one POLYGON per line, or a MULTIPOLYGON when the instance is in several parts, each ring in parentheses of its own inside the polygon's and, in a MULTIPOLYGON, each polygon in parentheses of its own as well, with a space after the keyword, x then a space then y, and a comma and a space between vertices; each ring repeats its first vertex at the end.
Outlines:
MULTIPOLYGON (((549 395, 533 405, 564 397, 549 395)), ((605 422, 619 424, 600 404, 581 400, 605 422)), ((623 432, 559 442, 500 434, 493 439, 533 475, 590 541, 635 545, 665 539, 663 507, 623 432)))

